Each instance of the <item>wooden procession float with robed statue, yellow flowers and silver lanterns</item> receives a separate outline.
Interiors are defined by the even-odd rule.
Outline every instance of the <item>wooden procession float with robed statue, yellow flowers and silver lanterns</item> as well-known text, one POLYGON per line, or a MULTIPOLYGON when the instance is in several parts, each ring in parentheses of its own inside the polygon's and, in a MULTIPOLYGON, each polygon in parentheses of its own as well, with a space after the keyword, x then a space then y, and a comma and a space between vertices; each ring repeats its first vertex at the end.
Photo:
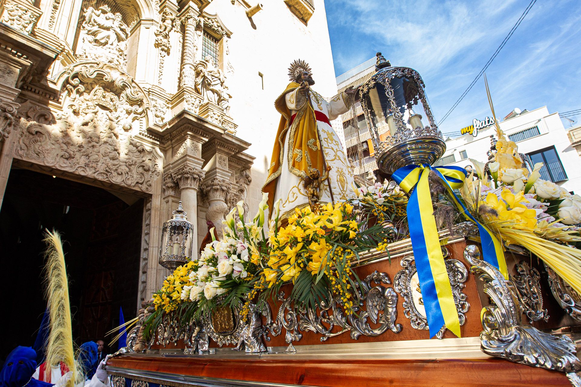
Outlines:
POLYGON ((312 153, 285 145, 270 171, 292 163, 304 205, 267 181, 256 215, 239 202, 202 246, 178 207, 160 248, 171 274, 107 362, 113 386, 581 386, 581 197, 498 124, 487 163, 434 167, 446 146, 413 69, 378 54, 355 96, 321 105, 307 67, 283 96, 308 101, 277 102, 277 137, 314 130, 312 153), (325 152, 319 113, 353 99, 379 182, 325 152))

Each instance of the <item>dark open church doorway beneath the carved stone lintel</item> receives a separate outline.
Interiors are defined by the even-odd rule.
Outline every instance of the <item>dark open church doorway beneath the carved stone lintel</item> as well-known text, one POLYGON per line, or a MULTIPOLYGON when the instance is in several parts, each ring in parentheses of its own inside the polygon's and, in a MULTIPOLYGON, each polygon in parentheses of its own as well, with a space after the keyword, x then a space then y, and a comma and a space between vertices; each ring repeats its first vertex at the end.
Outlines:
MULTIPOLYGON (((135 317, 144 200, 117 195, 29 170, 10 171, 0 210, 0 282, 4 291, 0 358, 17 345, 31 346, 40 326, 44 264, 42 233, 64 241, 73 338, 110 341, 105 333, 135 317)), ((114 352, 116 345, 111 348, 114 352)))

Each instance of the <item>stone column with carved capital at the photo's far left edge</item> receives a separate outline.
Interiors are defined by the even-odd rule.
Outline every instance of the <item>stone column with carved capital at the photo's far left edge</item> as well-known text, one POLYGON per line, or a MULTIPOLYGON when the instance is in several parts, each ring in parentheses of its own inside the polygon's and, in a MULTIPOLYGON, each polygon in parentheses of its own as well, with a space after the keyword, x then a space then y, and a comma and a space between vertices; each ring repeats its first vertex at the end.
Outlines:
POLYGON ((12 167, 12 148, 18 134, 12 129, 17 120, 16 113, 19 107, 16 102, 0 102, 0 208, 12 167))

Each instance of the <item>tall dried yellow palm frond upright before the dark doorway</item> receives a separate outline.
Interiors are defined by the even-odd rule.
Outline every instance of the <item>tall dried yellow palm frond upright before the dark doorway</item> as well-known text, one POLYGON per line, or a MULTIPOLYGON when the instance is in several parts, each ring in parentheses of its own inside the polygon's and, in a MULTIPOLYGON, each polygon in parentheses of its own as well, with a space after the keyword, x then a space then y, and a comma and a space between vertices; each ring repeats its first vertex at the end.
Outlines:
MULTIPOLYGON (((66 364, 73 372, 66 386, 74 387, 83 381, 74 361, 73 331, 71 324, 71 309, 69 304, 69 281, 64 264, 63 243, 57 231, 45 230, 45 281, 47 307, 49 311, 48 345, 46 346, 46 372, 60 362, 66 364)), ((48 375, 46 375, 48 377, 48 375)))

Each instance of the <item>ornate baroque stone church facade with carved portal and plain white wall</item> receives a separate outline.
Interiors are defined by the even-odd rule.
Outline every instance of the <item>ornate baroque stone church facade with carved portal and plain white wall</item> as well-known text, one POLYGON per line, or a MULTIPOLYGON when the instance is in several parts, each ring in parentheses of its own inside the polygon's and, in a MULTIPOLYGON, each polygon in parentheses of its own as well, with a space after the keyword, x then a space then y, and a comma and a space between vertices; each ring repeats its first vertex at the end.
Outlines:
POLYGON ((289 63, 336 94, 323 0, 2 0, 0 45, 0 206, 18 171, 139 199, 136 307, 178 201, 195 246, 238 200, 256 210, 289 63))

